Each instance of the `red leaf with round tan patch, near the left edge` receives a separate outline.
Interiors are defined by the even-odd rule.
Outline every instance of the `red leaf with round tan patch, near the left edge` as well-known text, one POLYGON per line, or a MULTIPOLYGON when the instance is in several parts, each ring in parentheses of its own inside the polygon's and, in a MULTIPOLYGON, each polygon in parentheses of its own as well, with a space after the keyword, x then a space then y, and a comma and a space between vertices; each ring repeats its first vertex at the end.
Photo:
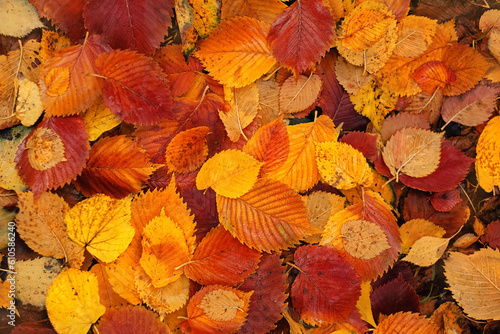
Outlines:
POLYGON ((89 135, 81 117, 48 118, 19 145, 15 162, 19 175, 38 197, 76 178, 85 166, 89 149, 89 135))

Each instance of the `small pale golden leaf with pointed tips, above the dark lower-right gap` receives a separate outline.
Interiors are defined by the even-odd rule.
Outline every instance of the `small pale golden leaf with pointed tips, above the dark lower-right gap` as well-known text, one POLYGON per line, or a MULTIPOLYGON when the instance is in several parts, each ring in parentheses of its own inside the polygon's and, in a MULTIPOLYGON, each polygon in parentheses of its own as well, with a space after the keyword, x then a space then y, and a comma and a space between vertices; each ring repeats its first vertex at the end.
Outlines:
POLYGON ((432 266, 441 258, 450 240, 451 238, 422 237, 413 243, 403 260, 420 267, 432 266))

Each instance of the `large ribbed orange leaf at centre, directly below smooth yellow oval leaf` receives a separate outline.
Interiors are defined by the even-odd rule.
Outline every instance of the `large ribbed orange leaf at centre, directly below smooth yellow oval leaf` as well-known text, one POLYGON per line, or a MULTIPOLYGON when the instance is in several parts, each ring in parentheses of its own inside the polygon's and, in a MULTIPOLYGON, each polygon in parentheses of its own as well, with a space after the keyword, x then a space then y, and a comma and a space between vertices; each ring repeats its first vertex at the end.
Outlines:
POLYGON ((297 244, 314 228, 301 197, 285 184, 259 179, 245 195, 217 195, 219 220, 249 247, 271 252, 297 244))

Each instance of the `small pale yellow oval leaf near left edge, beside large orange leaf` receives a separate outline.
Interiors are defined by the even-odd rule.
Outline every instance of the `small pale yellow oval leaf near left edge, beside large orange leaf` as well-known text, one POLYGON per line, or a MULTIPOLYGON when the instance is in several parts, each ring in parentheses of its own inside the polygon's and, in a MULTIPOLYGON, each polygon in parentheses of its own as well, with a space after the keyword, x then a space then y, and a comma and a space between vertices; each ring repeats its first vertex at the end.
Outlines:
POLYGON ((32 126, 43 112, 38 86, 26 78, 19 80, 17 93, 16 117, 24 126, 32 126))

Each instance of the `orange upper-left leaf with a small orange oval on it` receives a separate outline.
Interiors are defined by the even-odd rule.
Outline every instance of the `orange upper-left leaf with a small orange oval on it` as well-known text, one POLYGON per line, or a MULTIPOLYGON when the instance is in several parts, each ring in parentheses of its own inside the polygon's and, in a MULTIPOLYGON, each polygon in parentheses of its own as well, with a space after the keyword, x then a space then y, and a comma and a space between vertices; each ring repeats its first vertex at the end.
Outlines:
POLYGON ((97 56, 109 50, 102 38, 90 36, 83 45, 65 47, 47 59, 40 73, 40 95, 49 116, 68 116, 90 107, 102 85, 92 76, 97 56))

